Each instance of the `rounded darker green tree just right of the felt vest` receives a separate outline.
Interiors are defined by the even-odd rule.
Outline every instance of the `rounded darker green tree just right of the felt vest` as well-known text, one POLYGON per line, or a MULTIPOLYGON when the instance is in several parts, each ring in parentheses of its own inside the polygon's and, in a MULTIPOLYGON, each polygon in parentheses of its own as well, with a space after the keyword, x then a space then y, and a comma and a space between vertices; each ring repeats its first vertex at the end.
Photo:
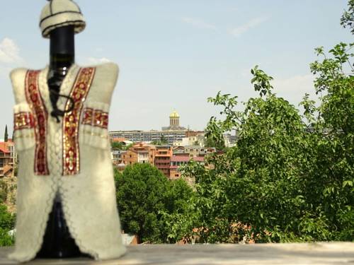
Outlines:
POLYGON ((129 165, 115 172, 117 203, 122 229, 143 242, 166 242, 163 213, 181 213, 192 193, 183 180, 170 182, 147 163, 129 165))

